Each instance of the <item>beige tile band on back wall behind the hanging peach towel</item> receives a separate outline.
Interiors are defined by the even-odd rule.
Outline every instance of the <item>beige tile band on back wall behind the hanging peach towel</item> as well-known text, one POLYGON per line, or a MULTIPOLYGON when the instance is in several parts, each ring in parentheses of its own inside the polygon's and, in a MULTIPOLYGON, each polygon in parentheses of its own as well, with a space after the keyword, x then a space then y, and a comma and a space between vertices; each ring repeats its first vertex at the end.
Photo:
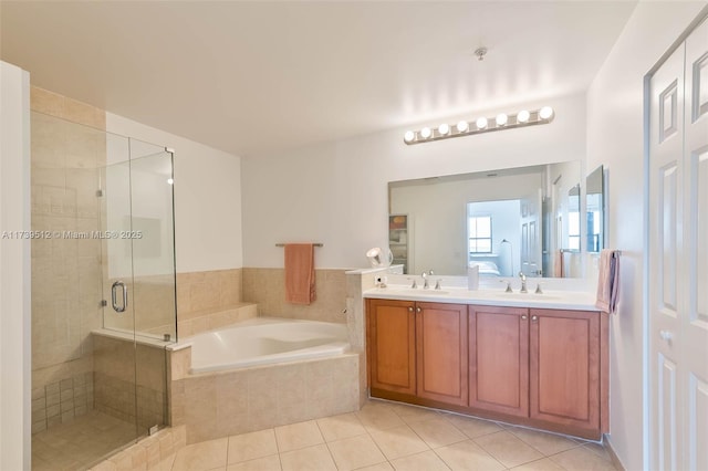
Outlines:
POLYGON ((284 269, 243 269, 243 300, 261 315, 345 323, 345 270, 315 270, 316 300, 305 306, 285 302, 284 269))

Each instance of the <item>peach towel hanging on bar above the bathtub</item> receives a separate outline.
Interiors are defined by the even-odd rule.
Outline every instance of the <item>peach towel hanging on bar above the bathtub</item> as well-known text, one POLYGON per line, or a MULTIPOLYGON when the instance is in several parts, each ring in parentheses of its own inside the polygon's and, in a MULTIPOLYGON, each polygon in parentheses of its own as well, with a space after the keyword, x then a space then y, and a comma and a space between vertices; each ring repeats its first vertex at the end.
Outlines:
POLYGON ((310 304, 314 292, 314 244, 285 244, 285 301, 310 304))

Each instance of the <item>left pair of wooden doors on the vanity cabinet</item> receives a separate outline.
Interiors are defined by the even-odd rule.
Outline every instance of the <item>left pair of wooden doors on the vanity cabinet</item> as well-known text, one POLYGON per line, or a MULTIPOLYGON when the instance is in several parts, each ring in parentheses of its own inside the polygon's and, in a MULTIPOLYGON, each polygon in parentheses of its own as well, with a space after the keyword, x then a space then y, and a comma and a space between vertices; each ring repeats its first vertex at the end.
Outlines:
POLYGON ((467 405, 467 305, 368 301, 373 394, 467 405))

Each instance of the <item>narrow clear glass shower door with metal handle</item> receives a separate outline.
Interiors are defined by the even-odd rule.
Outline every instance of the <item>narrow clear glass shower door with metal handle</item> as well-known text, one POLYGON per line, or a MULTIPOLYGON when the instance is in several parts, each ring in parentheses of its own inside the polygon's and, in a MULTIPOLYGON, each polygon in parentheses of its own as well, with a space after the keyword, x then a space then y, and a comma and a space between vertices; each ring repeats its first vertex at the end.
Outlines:
POLYGON ((106 165, 98 190, 101 222, 102 327, 93 336, 94 408, 111 427, 106 438, 113 449, 134 442, 137 426, 135 312, 131 240, 129 139, 106 135, 106 165))

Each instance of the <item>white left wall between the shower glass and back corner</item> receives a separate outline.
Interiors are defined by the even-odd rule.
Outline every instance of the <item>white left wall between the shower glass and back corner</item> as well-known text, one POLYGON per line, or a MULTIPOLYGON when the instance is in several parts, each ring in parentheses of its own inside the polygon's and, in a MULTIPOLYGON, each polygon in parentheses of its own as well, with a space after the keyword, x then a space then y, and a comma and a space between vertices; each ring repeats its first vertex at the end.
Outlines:
POLYGON ((175 149, 177 272, 243 266, 238 157, 112 113, 106 130, 175 149))

